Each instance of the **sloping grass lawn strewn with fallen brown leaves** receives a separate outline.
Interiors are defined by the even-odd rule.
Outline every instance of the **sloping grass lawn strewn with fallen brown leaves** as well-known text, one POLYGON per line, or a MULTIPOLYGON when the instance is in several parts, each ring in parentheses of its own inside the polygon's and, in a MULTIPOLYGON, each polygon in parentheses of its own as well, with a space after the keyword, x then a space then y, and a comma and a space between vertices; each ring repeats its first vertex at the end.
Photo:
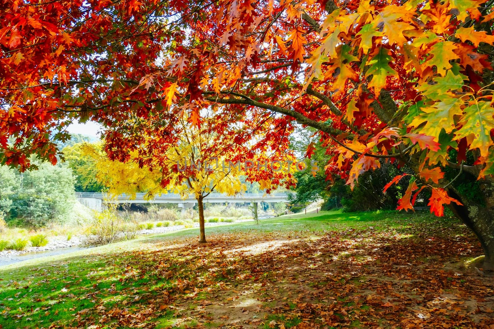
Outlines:
POLYGON ((0 328, 492 328, 455 219, 295 214, 0 267, 0 328))

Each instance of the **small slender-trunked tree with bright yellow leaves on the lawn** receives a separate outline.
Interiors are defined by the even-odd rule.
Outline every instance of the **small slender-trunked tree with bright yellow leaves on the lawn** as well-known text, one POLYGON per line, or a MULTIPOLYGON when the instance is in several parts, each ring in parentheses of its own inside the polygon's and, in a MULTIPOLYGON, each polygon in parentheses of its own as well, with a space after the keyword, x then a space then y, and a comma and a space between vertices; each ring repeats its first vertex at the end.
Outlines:
MULTIPOLYGON (((237 143, 234 134, 218 134, 214 120, 204 119, 201 126, 180 122, 175 142, 157 146, 157 136, 144 136, 143 143, 129 152, 126 161, 112 161, 105 152, 86 144, 84 152, 96 159, 98 179, 113 195, 145 192, 155 195, 179 193, 183 199, 194 197, 199 208, 200 238, 206 242, 203 200, 211 192, 235 195, 246 190, 240 176, 259 182, 268 193, 280 185, 294 185, 296 159, 289 151, 268 150, 255 146, 255 141, 237 143), (146 143, 149 141, 149 144, 146 143), (221 143, 220 143, 221 141, 221 143), (153 156, 145 161, 139 149, 154 147, 153 156)), ((170 139, 167 139, 168 141, 170 139)))

